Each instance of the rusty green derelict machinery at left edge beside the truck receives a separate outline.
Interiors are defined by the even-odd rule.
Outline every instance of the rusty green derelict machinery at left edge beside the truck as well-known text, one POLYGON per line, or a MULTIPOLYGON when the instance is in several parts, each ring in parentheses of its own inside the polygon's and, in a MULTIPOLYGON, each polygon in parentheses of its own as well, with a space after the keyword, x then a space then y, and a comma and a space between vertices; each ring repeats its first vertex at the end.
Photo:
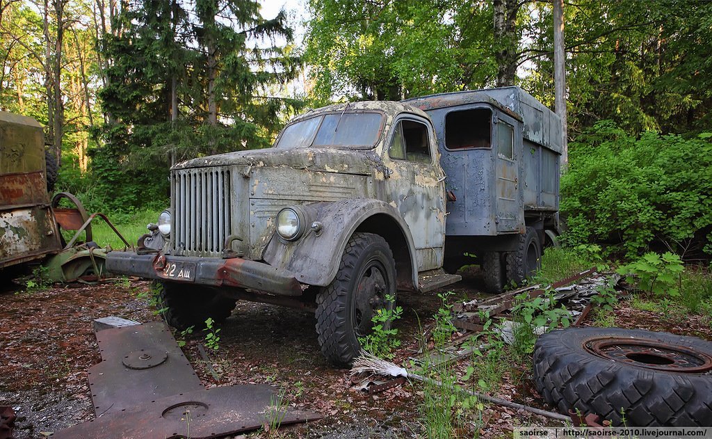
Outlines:
POLYGON ((92 242, 91 222, 100 216, 118 231, 104 215, 88 215, 74 195, 60 192, 51 197, 48 167, 53 164, 48 163, 42 125, 0 111, 0 272, 41 261, 52 282, 105 274, 110 249, 92 242), (61 207, 62 200, 73 207, 61 207), (62 230, 77 232, 65 243, 62 230), (84 241, 78 242, 82 233, 84 241))

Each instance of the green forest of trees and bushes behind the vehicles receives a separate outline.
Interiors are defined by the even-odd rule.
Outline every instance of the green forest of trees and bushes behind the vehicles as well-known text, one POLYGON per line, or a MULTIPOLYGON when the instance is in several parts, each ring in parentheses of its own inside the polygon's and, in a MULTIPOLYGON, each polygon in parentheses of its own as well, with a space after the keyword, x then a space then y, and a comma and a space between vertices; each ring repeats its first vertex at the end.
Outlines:
MULTIPOLYGON (((0 110, 46 127, 57 190, 120 215, 167 205, 172 163, 268 147, 335 101, 517 85, 553 108, 550 1, 262 7, 0 0, 0 110)), ((570 0, 564 21, 566 239, 708 263, 712 2, 570 0)))

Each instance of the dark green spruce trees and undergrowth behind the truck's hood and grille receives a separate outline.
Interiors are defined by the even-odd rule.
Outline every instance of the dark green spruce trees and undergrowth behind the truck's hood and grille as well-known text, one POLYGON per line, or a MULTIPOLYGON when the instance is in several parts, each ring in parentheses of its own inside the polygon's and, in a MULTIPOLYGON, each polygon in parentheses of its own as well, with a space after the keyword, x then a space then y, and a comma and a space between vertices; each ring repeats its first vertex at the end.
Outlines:
POLYGON ((103 36, 110 60, 100 91, 109 122, 91 151, 96 192, 111 209, 164 200, 172 162, 263 148, 300 108, 268 97, 295 77, 286 16, 265 20, 259 4, 236 0, 127 3, 103 36), (251 39, 263 43, 251 47, 251 39), (173 101, 177 109, 172 110, 173 101))

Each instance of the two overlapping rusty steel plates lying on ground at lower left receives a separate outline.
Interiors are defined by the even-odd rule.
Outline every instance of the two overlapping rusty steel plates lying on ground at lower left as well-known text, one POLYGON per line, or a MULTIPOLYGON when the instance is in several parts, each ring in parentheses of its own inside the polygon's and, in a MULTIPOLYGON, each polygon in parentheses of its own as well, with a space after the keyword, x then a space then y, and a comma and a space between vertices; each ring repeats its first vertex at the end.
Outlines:
POLYGON ((271 386, 205 389, 162 321, 125 326, 106 319, 96 337, 102 362, 89 369, 95 420, 56 438, 214 438, 254 430, 273 416, 281 424, 321 418, 276 404, 271 386), (279 413, 272 413, 275 406, 279 413))

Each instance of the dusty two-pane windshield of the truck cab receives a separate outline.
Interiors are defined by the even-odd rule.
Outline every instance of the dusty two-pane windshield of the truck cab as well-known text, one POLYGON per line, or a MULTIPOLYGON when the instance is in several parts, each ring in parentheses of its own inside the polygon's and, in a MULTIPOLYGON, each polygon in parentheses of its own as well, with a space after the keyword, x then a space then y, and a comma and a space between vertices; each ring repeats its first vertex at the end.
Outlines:
POLYGON ((372 148, 381 134, 381 113, 333 113, 288 125, 276 148, 335 146, 372 148))

